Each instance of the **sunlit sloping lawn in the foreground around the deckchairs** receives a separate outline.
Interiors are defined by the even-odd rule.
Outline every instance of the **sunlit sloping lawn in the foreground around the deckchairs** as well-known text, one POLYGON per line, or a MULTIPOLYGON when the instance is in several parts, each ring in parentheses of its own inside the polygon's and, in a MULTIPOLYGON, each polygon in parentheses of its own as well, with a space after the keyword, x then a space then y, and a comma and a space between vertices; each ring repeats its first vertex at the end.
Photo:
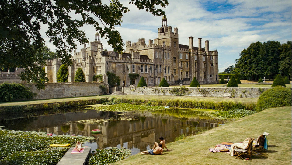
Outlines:
POLYGON ((266 109, 202 134, 168 143, 163 155, 134 155, 114 164, 291 164, 291 107, 266 109), (227 153, 212 153, 221 142, 242 142, 268 132, 268 151, 243 161, 227 153))

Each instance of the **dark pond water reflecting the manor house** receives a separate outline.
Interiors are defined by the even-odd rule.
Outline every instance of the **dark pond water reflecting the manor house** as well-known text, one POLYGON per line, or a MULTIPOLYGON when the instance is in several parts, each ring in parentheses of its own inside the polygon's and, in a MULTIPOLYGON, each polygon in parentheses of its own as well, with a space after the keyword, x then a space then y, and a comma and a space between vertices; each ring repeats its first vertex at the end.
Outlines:
POLYGON ((161 136, 169 143, 182 134, 195 135, 226 122, 188 109, 127 112, 67 110, 59 111, 57 114, 38 115, 6 120, 2 117, 0 125, 10 130, 93 136, 95 140, 83 144, 92 147, 92 151, 125 147, 134 155, 152 148, 155 142, 159 142, 161 136), (99 129, 101 133, 92 134, 93 129, 99 129))

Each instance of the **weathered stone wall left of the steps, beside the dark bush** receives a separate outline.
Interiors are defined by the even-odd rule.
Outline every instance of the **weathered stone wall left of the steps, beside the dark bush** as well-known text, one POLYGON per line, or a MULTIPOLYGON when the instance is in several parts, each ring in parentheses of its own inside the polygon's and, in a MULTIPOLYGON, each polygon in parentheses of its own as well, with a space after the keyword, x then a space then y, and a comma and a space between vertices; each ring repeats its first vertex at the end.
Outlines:
POLYGON ((35 84, 23 84, 30 88, 30 91, 36 93, 33 99, 55 99, 64 97, 83 97, 102 95, 102 90, 99 88, 104 83, 46 83, 45 90, 38 90, 35 84))

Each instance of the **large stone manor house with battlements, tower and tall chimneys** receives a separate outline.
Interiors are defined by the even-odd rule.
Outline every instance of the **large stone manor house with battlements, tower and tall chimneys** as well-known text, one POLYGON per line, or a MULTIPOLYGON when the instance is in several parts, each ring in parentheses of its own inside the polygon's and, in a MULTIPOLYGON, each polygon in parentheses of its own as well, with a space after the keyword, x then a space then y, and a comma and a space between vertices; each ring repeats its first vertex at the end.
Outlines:
MULTIPOLYGON (((209 41, 202 48, 201 38, 198 47, 193 46, 193 37, 189 37, 189 45, 179 44, 178 28, 167 25, 166 17, 162 18, 162 26, 158 28, 158 38, 145 43, 144 38, 138 42, 126 41, 126 50, 122 54, 103 50, 99 34, 89 47, 84 44, 80 52, 74 51, 73 65, 69 69, 68 82, 74 82, 75 72, 82 68, 86 82, 92 82, 94 75, 112 72, 120 77, 120 84, 137 86, 143 76, 148 86, 158 86, 165 78, 170 85, 190 84, 193 77, 200 84, 218 82, 218 52, 209 51, 209 41), (130 79, 129 74, 138 75, 130 79)), ((57 82, 57 72, 61 66, 60 59, 47 61, 45 67, 49 82, 57 82)), ((97 80, 99 81, 99 80, 97 80)), ((105 81, 107 82, 107 81, 105 81)))

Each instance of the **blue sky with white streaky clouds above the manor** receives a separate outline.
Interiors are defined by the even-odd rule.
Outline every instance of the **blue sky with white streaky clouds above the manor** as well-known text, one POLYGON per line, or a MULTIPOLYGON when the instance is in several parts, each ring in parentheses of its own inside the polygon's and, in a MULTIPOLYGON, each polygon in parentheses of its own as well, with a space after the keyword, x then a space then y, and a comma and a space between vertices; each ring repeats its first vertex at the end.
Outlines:
MULTIPOLYGON (((109 1, 103 1, 108 3, 109 1)), ((120 1, 130 9, 124 14, 120 32, 123 43, 137 42, 139 38, 158 38, 157 30, 161 27, 162 16, 153 16, 145 10, 139 10, 129 4, 129 0, 120 1)), ((279 41, 281 44, 292 40, 292 2, 291 0, 169 0, 163 10, 167 24, 178 28, 179 44, 189 45, 189 36, 194 37, 194 46, 198 47, 197 38, 209 40, 209 50, 218 51, 219 72, 235 64, 240 52, 253 42, 279 41)), ((74 17, 74 16, 73 16, 74 17)), ((81 28, 86 37, 94 41, 96 33, 92 26, 81 28)), ((49 38, 43 36, 46 45, 55 51, 49 38)), ((113 50, 101 38, 103 48, 113 50)), ((83 45, 77 47, 77 52, 83 45)), ((125 48, 125 46, 124 46, 125 48)))

